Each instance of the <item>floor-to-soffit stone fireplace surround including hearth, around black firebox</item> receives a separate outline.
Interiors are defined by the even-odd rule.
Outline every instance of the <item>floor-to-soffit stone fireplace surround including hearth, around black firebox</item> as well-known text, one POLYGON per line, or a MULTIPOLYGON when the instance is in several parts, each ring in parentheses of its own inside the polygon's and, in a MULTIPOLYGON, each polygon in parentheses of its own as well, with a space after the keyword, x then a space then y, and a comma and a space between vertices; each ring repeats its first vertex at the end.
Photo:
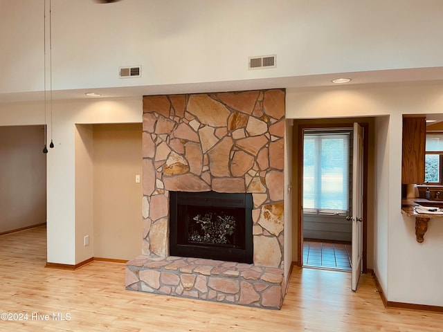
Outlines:
POLYGON ((283 278, 267 276, 283 273, 284 95, 143 98, 143 247, 127 263, 127 289, 280 308, 283 278), (253 264, 169 257, 169 192, 210 190, 253 194, 253 264))

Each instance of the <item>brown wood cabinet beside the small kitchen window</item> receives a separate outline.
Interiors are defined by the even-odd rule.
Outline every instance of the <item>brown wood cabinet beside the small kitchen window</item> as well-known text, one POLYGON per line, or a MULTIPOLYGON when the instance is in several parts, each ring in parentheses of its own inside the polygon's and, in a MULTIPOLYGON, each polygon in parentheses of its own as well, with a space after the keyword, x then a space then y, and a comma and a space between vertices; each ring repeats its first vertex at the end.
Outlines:
POLYGON ((426 117, 403 118, 401 183, 424 183, 426 117))

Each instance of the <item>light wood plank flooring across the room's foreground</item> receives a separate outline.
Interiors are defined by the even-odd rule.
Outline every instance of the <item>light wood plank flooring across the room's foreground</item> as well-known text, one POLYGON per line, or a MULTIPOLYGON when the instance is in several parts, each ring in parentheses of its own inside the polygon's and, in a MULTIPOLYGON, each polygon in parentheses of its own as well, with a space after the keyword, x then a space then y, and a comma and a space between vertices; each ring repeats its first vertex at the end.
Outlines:
POLYGON ((294 268, 282 309, 272 311, 125 291, 125 264, 45 263, 44 227, 0 237, 0 312, 28 314, 0 321, 0 331, 443 331, 440 313, 384 308, 369 275, 353 293, 350 273, 294 268), (32 320, 36 313, 49 320, 32 320))

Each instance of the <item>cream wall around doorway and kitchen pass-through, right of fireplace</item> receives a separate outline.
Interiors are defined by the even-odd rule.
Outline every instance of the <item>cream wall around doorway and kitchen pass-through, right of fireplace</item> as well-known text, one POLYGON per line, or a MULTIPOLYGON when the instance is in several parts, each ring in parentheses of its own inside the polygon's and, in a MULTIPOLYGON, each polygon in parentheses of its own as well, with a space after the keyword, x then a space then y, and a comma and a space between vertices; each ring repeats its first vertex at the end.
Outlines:
POLYGON ((436 263, 443 250, 442 219, 431 221, 424 243, 417 243, 415 219, 401 214, 402 114, 442 112, 442 91, 437 83, 287 91, 287 118, 389 116, 377 119, 374 266, 392 302, 443 306, 443 266, 436 263))

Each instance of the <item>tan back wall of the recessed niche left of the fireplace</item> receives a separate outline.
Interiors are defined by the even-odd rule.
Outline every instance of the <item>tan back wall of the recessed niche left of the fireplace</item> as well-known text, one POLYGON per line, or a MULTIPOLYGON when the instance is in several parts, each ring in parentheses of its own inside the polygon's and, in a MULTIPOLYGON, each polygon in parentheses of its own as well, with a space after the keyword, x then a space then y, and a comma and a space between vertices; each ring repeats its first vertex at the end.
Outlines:
POLYGON ((93 125, 93 256, 129 260, 141 254, 142 124, 93 125))

